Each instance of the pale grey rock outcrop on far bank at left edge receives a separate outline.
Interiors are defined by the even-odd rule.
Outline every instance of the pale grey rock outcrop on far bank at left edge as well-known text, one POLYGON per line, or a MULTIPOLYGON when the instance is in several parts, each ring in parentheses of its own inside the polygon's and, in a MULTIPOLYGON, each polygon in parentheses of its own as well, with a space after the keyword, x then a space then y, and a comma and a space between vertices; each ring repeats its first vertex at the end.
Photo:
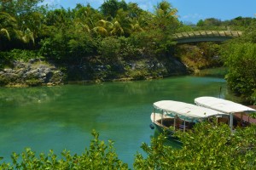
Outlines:
POLYGON ((63 83, 63 73, 55 65, 39 59, 14 61, 11 68, 0 71, 2 86, 40 86, 63 83))

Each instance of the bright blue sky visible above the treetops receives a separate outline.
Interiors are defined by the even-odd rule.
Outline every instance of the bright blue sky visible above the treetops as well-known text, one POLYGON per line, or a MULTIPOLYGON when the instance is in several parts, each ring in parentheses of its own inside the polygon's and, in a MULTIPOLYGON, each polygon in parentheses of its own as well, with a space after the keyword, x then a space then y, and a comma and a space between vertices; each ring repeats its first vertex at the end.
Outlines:
MULTIPOLYGON (((125 0, 126 3, 137 3, 144 10, 153 11, 161 0, 125 0)), ((198 20, 216 18, 231 20, 238 16, 256 17, 256 0, 168 0, 177 8, 179 20, 196 23, 198 20)), ((44 3, 55 4, 55 7, 74 8, 76 3, 99 8, 104 0, 44 0, 44 3)))

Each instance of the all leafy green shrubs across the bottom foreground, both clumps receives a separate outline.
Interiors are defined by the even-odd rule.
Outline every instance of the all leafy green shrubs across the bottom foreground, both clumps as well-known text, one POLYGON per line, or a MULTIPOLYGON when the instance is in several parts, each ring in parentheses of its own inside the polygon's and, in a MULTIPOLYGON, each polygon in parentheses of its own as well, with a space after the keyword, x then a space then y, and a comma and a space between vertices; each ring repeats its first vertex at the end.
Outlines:
MULTIPOLYGON (((99 140, 92 131, 90 148, 81 155, 63 150, 57 156, 53 150, 39 156, 27 148, 21 154, 13 153, 12 163, 1 163, 1 169, 129 169, 119 160, 113 141, 99 140)), ((256 127, 237 129, 231 133, 226 124, 198 123, 194 131, 177 133, 182 147, 166 144, 168 137, 161 133, 151 143, 142 144, 143 153, 137 153, 133 169, 255 169, 256 127), (146 155, 145 155, 146 154, 146 155)))

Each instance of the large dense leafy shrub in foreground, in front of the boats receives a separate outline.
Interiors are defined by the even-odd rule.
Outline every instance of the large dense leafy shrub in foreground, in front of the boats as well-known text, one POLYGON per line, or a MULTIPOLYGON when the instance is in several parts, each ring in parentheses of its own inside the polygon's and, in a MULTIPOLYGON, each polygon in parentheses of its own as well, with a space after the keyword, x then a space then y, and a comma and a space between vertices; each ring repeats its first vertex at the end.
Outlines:
POLYGON ((147 157, 137 154, 135 169, 254 169, 256 167, 256 127, 230 132, 225 124, 197 124, 194 131, 177 133, 180 150, 165 145, 161 134, 151 144, 143 144, 147 157))

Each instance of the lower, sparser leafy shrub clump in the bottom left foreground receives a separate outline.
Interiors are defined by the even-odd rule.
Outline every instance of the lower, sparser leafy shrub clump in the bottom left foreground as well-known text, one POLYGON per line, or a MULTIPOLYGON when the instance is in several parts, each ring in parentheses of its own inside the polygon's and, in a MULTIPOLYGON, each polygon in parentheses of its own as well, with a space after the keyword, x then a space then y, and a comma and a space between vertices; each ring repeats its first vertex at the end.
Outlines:
POLYGON ((119 160, 113 149, 113 141, 108 144, 99 140, 99 133, 92 132, 94 139, 90 142, 90 149, 85 149, 80 156, 72 156, 70 151, 63 150, 61 158, 49 150, 47 156, 39 156, 27 148, 21 155, 13 153, 12 164, 3 162, 1 169, 128 169, 128 165, 119 160))

